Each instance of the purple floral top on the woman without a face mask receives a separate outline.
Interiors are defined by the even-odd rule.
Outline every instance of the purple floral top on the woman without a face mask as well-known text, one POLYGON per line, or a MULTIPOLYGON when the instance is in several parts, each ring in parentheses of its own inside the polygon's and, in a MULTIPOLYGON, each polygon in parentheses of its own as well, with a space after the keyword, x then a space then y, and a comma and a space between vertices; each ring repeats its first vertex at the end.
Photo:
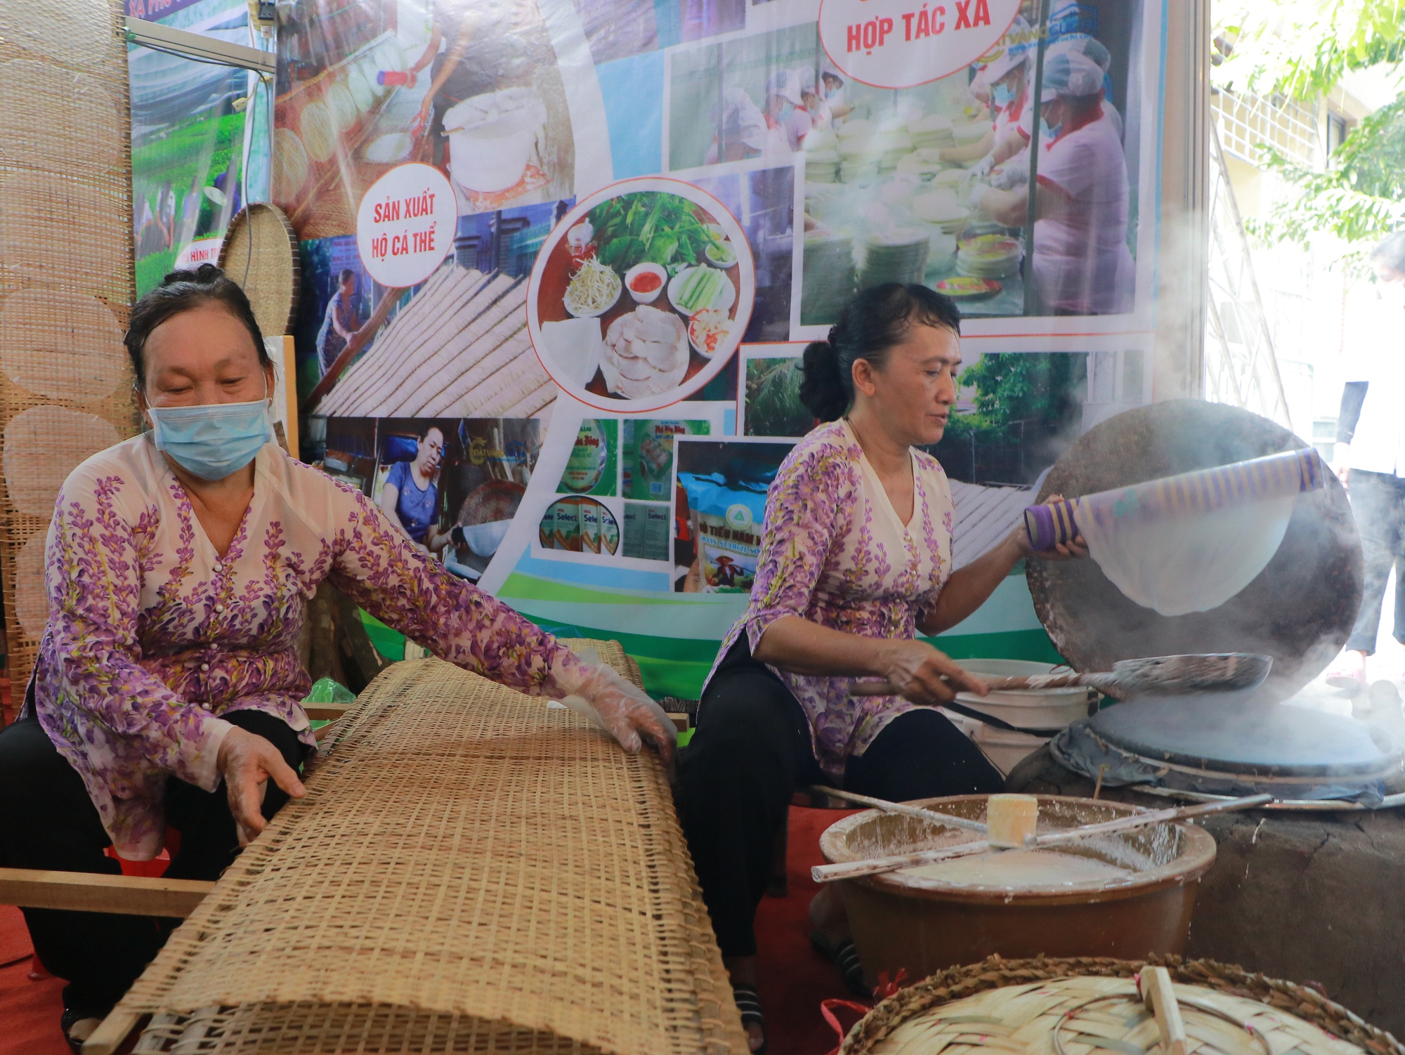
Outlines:
MULTIPOLYGON (((783 615, 868 638, 915 638, 951 575, 953 504, 936 458, 913 451, 912 476, 912 520, 903 524, 847 421, 795 444, 766 497, 750 604, 718 662, 743 631, 754 652, 783 615)), ((850 756, 916 707, 902 697, 850 698, 850 677, 771 670, 809 716, 815 757, 835 780, 850 756)))

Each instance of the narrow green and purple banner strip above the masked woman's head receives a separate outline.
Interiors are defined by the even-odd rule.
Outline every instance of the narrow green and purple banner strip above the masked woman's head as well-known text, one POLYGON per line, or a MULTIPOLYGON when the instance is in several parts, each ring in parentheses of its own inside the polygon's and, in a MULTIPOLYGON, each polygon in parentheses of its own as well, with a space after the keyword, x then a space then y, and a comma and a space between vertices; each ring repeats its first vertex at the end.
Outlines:
MULTIPOLYGON (((244 0, 126 0, 132 18, 250 44, 244 0)), ((136 295, 214 264, 229 221, 268 199, 268 93, 259 76, 129 45, 136 295)))

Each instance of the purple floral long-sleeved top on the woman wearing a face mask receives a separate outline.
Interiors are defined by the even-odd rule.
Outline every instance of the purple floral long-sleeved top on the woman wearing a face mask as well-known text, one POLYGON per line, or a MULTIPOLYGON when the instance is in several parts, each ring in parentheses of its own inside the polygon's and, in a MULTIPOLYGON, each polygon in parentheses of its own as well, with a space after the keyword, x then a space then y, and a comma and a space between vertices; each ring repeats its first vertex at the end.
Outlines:
POLYGON ((128 860, 166 834, 167 774, 205 791, 233 726, 266 711, 315 746, 298 657, 308 600, 329 579, 434 655, 531 694, 590 667, 506 604, 430 561, 370 499, 266 445, 223 558, 145 435, 63 483, 45 553, 49 622, 34 697, 128 860))

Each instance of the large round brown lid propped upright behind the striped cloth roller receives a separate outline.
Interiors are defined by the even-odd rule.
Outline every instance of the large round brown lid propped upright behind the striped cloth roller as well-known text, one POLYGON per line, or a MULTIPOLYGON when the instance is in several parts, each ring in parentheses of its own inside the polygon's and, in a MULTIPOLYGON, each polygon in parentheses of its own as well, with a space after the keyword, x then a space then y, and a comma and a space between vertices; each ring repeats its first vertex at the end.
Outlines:
MULTIPOLYGON (((1191 469, 1301 448, 1287 428, 1248 410, 1177 399, 1127 410, 1085 433, 1058 459, 1038 500, 1073 497, 1191 469)), ((1286 700, 1346 643, 1361 601, 1361 544, 1346 492, 1301 494, 1269 566, 1218 608, 1161 615, 1127 598, 1094 561, 1028 561, 1034 611, 1076 670, 1186 652, 1273 656, 1262 698, 1286 700)))

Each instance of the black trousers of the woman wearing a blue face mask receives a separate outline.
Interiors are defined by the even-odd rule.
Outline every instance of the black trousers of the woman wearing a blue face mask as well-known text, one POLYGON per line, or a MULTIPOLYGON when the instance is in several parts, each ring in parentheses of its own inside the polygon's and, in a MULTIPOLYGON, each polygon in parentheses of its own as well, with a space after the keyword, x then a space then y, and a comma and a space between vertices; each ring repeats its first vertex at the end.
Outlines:
MULTIPOLYGON (((296 768, 306 746, 298 733, 261 711, 233 711, 225 721, 270 740, 296 768)), ((263 815, 271 818, 288 795, 268 781, 263 815)), ((170 777, 166 819, 181 833, 166 875, 218 879, 239 856, 239 834, 225 782, 214 792, 170 777)), ((111 846, 83 780, 30 716, 0 730, 0 865, 60 872, 118 875, 121 865, 103 851, 111 846)), ((121 999, 180 920, 98 912, 24 909, 34 951, 44 966, 67 981, 63 1006, 105 1014, 121 999)))

